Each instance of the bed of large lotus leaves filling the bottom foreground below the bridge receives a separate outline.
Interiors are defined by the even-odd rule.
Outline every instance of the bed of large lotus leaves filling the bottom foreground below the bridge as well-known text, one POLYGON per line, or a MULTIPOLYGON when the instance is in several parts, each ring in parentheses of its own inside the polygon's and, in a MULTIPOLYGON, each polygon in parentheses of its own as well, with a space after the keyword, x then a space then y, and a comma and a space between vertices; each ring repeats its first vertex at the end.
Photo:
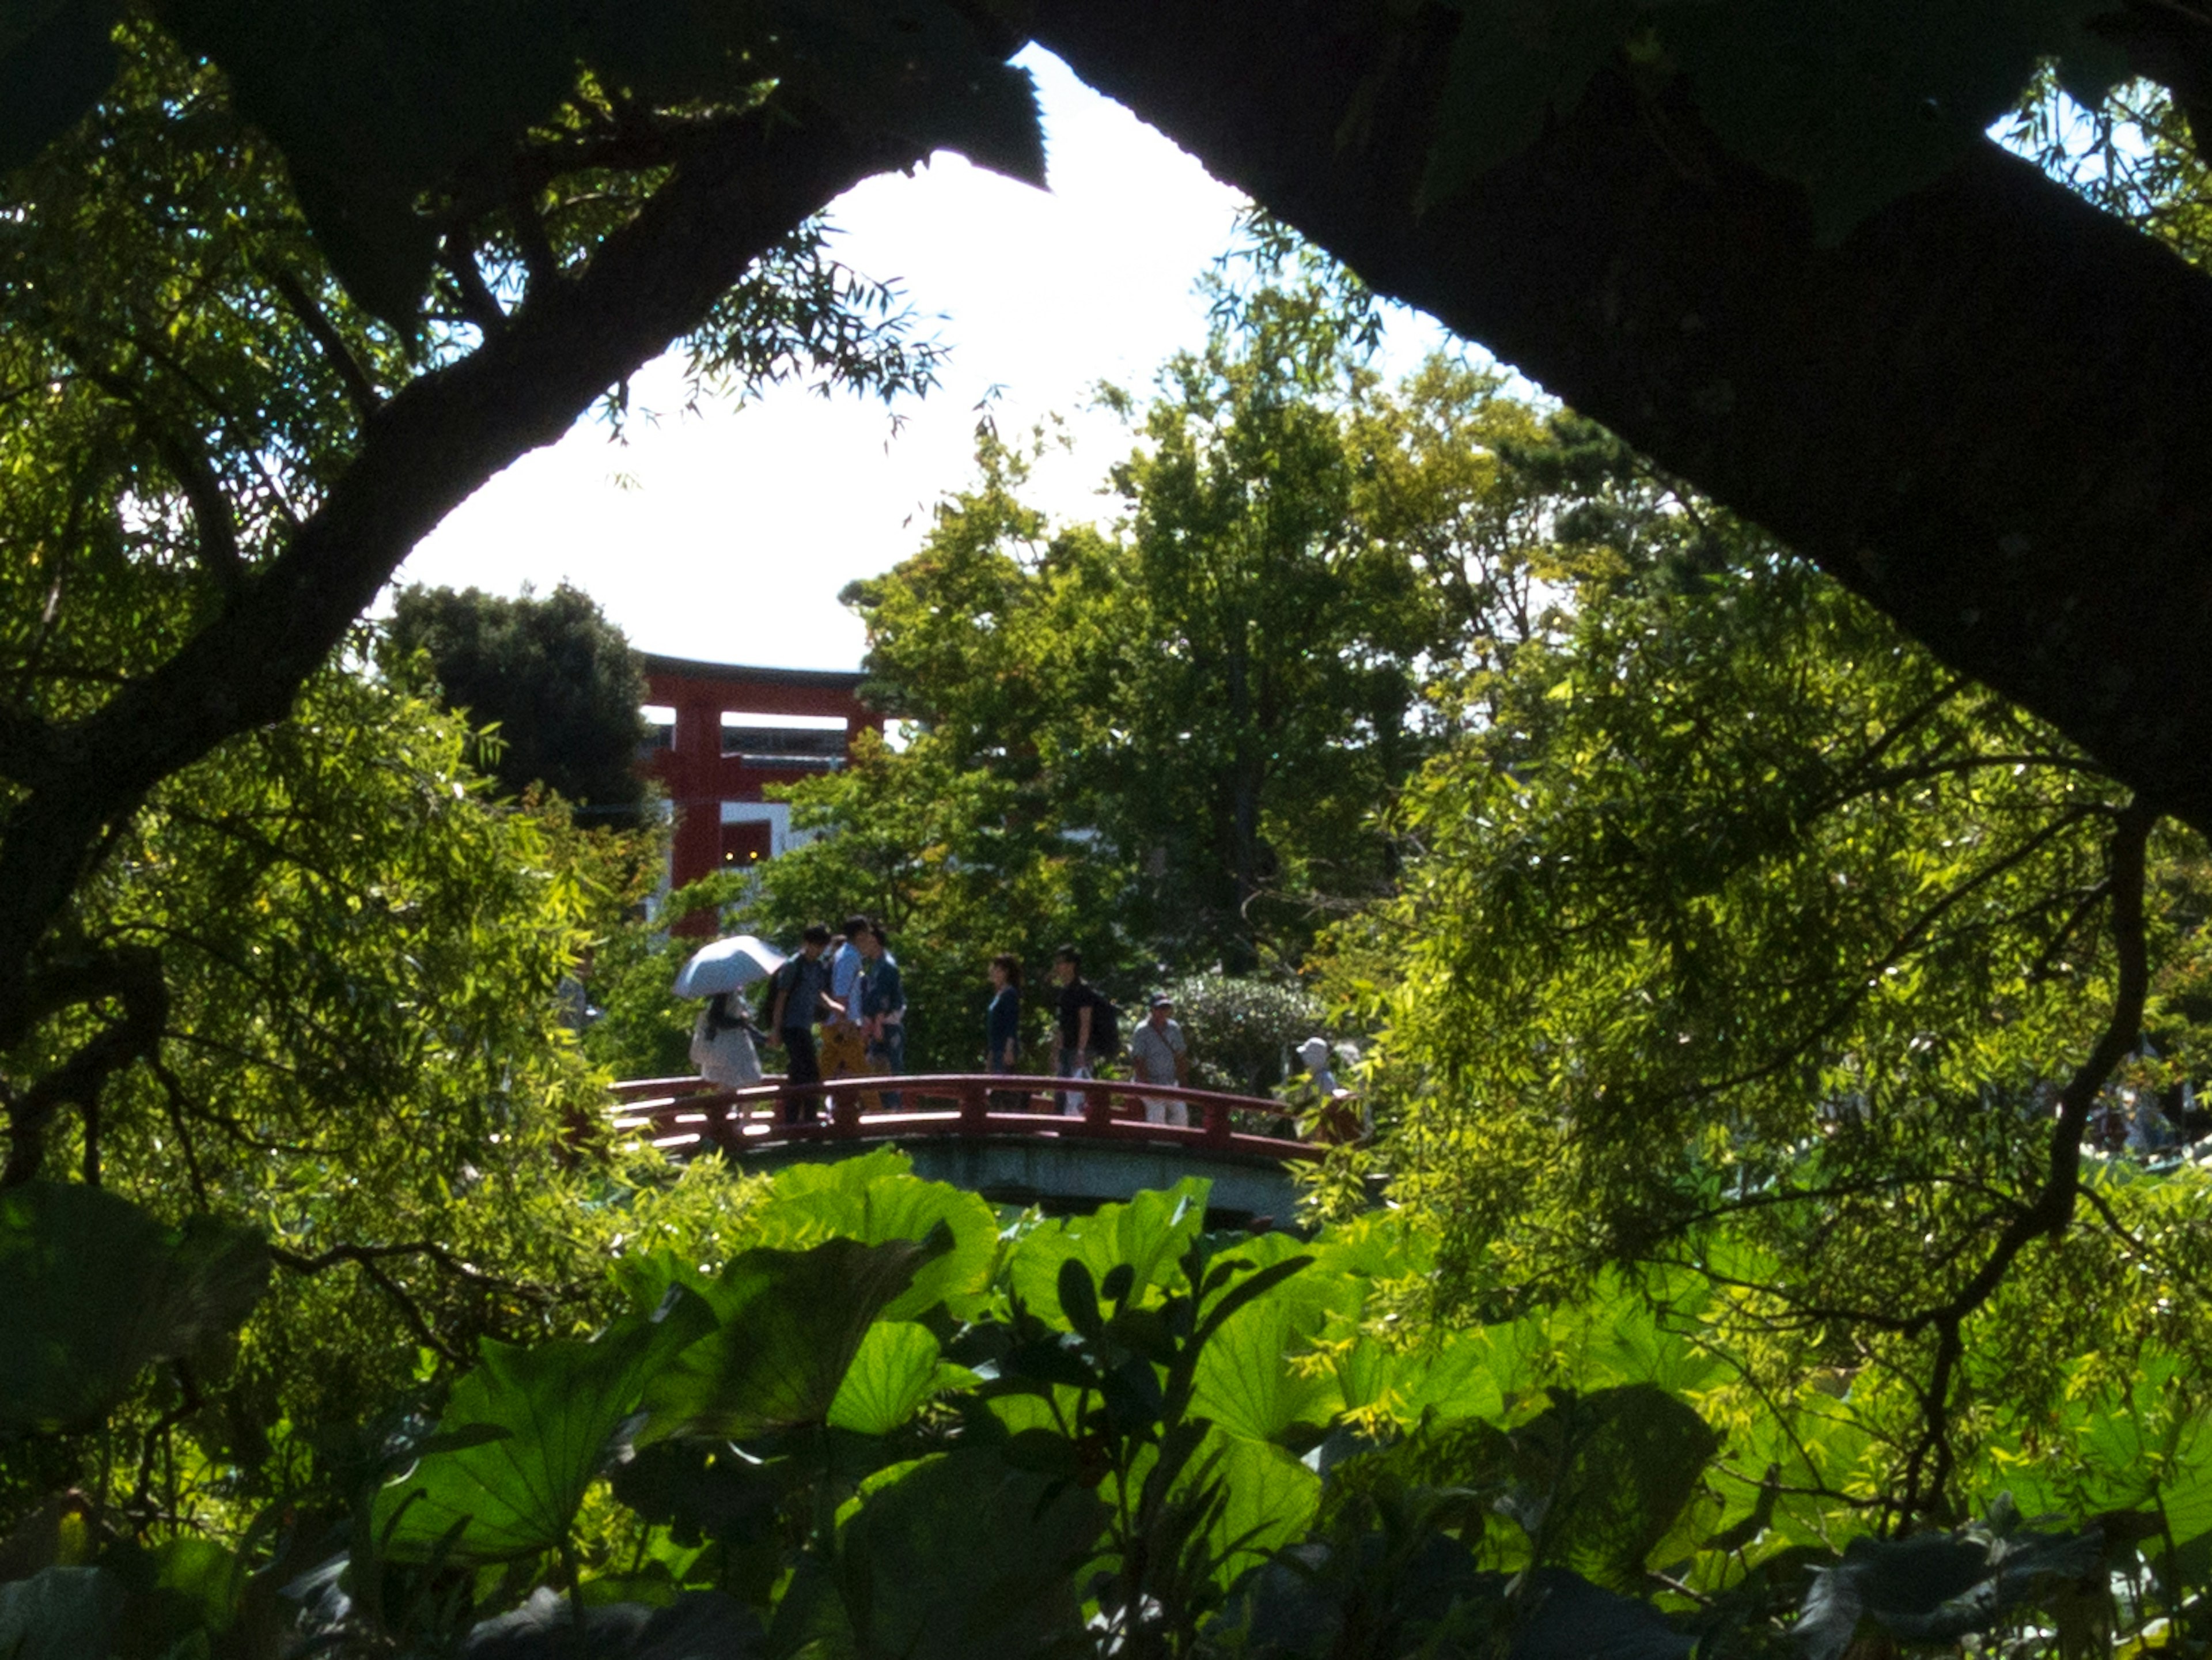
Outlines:
MULTIPOLYGON (((1307 1244, 1208 1235, 1206 1184, 1186 1182, 1002 1231, 947 1193, 883 1153, 776 1177, 750 1228, 810 1248, 681 1270, 653 1313, 591 1339, 487 1341, 299 1538, 239 1512, 230 1543, 146 1547, 80 1496, 95 1529, 64 1554, 24 1554, 27 1534, 0 1547, 0 1638, 126 1656, 312 1640, 549 1660, 1834 1660, 2139 1629, 2177 1605, 2179 1574, 2205 1571, 2170 1545, 2183 1525, 2205 1529, 2188 1547, 2212 1540, 2212 1467, 2168 1465, 2137 1512, 2081 1529, 1997 1498, 1907 1538, 1867 1536, 1798 1474, 1754 1479, 1767 1432, 1710 1417, 1730 1361, 1710 1328, 1674 1326, 1694 1297, 1610 1286, 1413 1337, 1396 1310, 1436 1255, 1405 1215, 1307 1244), (933 1244, 867 1242, 927 1217, 933 1244), (896 1317, 969 1231, 989 1257, 896 1317), (679 1372, 759 1410, 657 1412, 679 1372), (1389 1399, 1363 1403, 1378 1374, 1389 1399)), ((697 1259, 697 1242, 677 1257, 697 1259)), ((0 1295, 13 1273, 0 1259, 0 1295)), ((650 1288, 670 1259, 617 1273, 650 1288)), ((1801 1454, 1825 1439, 1851 1456, 1834 1425, 1803 1430, 1801 1454)))

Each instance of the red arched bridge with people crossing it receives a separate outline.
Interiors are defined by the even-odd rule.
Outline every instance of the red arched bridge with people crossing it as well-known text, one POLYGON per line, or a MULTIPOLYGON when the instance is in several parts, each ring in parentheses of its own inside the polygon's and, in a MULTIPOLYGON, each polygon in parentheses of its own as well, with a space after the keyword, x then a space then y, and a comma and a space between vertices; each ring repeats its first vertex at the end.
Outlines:
POLYGON ((1217 1226, 1254 1217, 1290 1220, 1290 1166, 1323 1149, 1292 1140, 1285 1109, 1252 1096, 1177 1085, 998 1073, 830 1078, 818 1085, 768 1080, 723 1089, 703 1078, 644 1078, 615 1085, 615 1127, 675 1158, 719 1149, 770 1171, 894 1144, 916 1175, 1002 1204, 1086 1211, 1186 1175, 1214 1182, 1217 1226), (1077 1111, 1062 1113, 1057 1098, 1077 1111), (792 1122, 805 1104, 818 1118, 792 1122), (1188 1124, 1155 1122, 1172 1102, 1188 1124))

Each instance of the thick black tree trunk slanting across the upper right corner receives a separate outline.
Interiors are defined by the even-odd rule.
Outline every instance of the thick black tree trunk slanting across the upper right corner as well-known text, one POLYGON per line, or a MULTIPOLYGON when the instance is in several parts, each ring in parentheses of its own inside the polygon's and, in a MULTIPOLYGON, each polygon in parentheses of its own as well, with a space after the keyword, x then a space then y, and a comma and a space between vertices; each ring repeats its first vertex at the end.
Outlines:
POLYGON ((1033 33, 2212 832, 2212 279, 1995 146, 1816 248, 1794 186, 1621 80, 1416 212, 1453 18, 1040 0, 1033 33))

